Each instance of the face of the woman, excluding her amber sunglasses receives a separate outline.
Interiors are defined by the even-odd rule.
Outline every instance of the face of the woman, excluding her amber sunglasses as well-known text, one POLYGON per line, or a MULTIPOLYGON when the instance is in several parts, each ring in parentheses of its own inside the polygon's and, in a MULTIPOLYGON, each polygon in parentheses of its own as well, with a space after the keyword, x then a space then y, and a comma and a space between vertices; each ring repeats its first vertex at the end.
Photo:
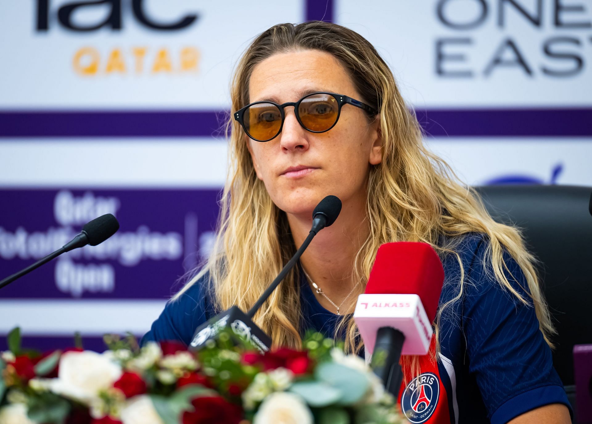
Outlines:
MULTIPOLYGON (((255 66, 249 82, 250 102, 296 102, 307 90, 345 94, 365 102, 345 68, 318 50, 278 53, 255 66)), ((307 216, 327 195, 344 207, 365 204, 365 182, 371 165, 381 162, 378 120, 369 124, 365 111, 343 105, 339 121, 325 133, 311 133, 298 123, 294 107, 284 109, 281 133, 269 142, 248 139, 255 171, 272 201, 289 214, 307 216), (290 172, 290 168, 303 168, 290 172)))

